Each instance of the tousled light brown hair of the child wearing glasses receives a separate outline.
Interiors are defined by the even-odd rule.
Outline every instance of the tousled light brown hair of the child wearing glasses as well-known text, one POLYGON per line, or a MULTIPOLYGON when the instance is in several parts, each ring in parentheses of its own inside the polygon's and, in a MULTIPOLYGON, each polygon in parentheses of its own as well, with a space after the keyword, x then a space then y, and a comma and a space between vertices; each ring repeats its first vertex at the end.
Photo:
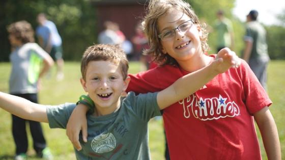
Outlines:
MULTIPOLYGON (((192 10, 191 6, 183 0, 150 0, 147 14, 142 23, 144 26, 145 33, 149 39, 150 48, 144 50, 144 54, 151 55, 154 61, 160 65, 169 64, 173 66, 179 66, 178 62, 170 57, 168 54, 162 53, 162 45, 158 38, 158 18, 167 13, 169 9, 175 8, 187 14, 193 21, 194 24, 199 24, 198 17, 192 10)), ((206 30, 206 24, 201 26, 202 36, 200 37, 202 50, 206 52, 209 49, 207 44, 208 32, 206 30)))

